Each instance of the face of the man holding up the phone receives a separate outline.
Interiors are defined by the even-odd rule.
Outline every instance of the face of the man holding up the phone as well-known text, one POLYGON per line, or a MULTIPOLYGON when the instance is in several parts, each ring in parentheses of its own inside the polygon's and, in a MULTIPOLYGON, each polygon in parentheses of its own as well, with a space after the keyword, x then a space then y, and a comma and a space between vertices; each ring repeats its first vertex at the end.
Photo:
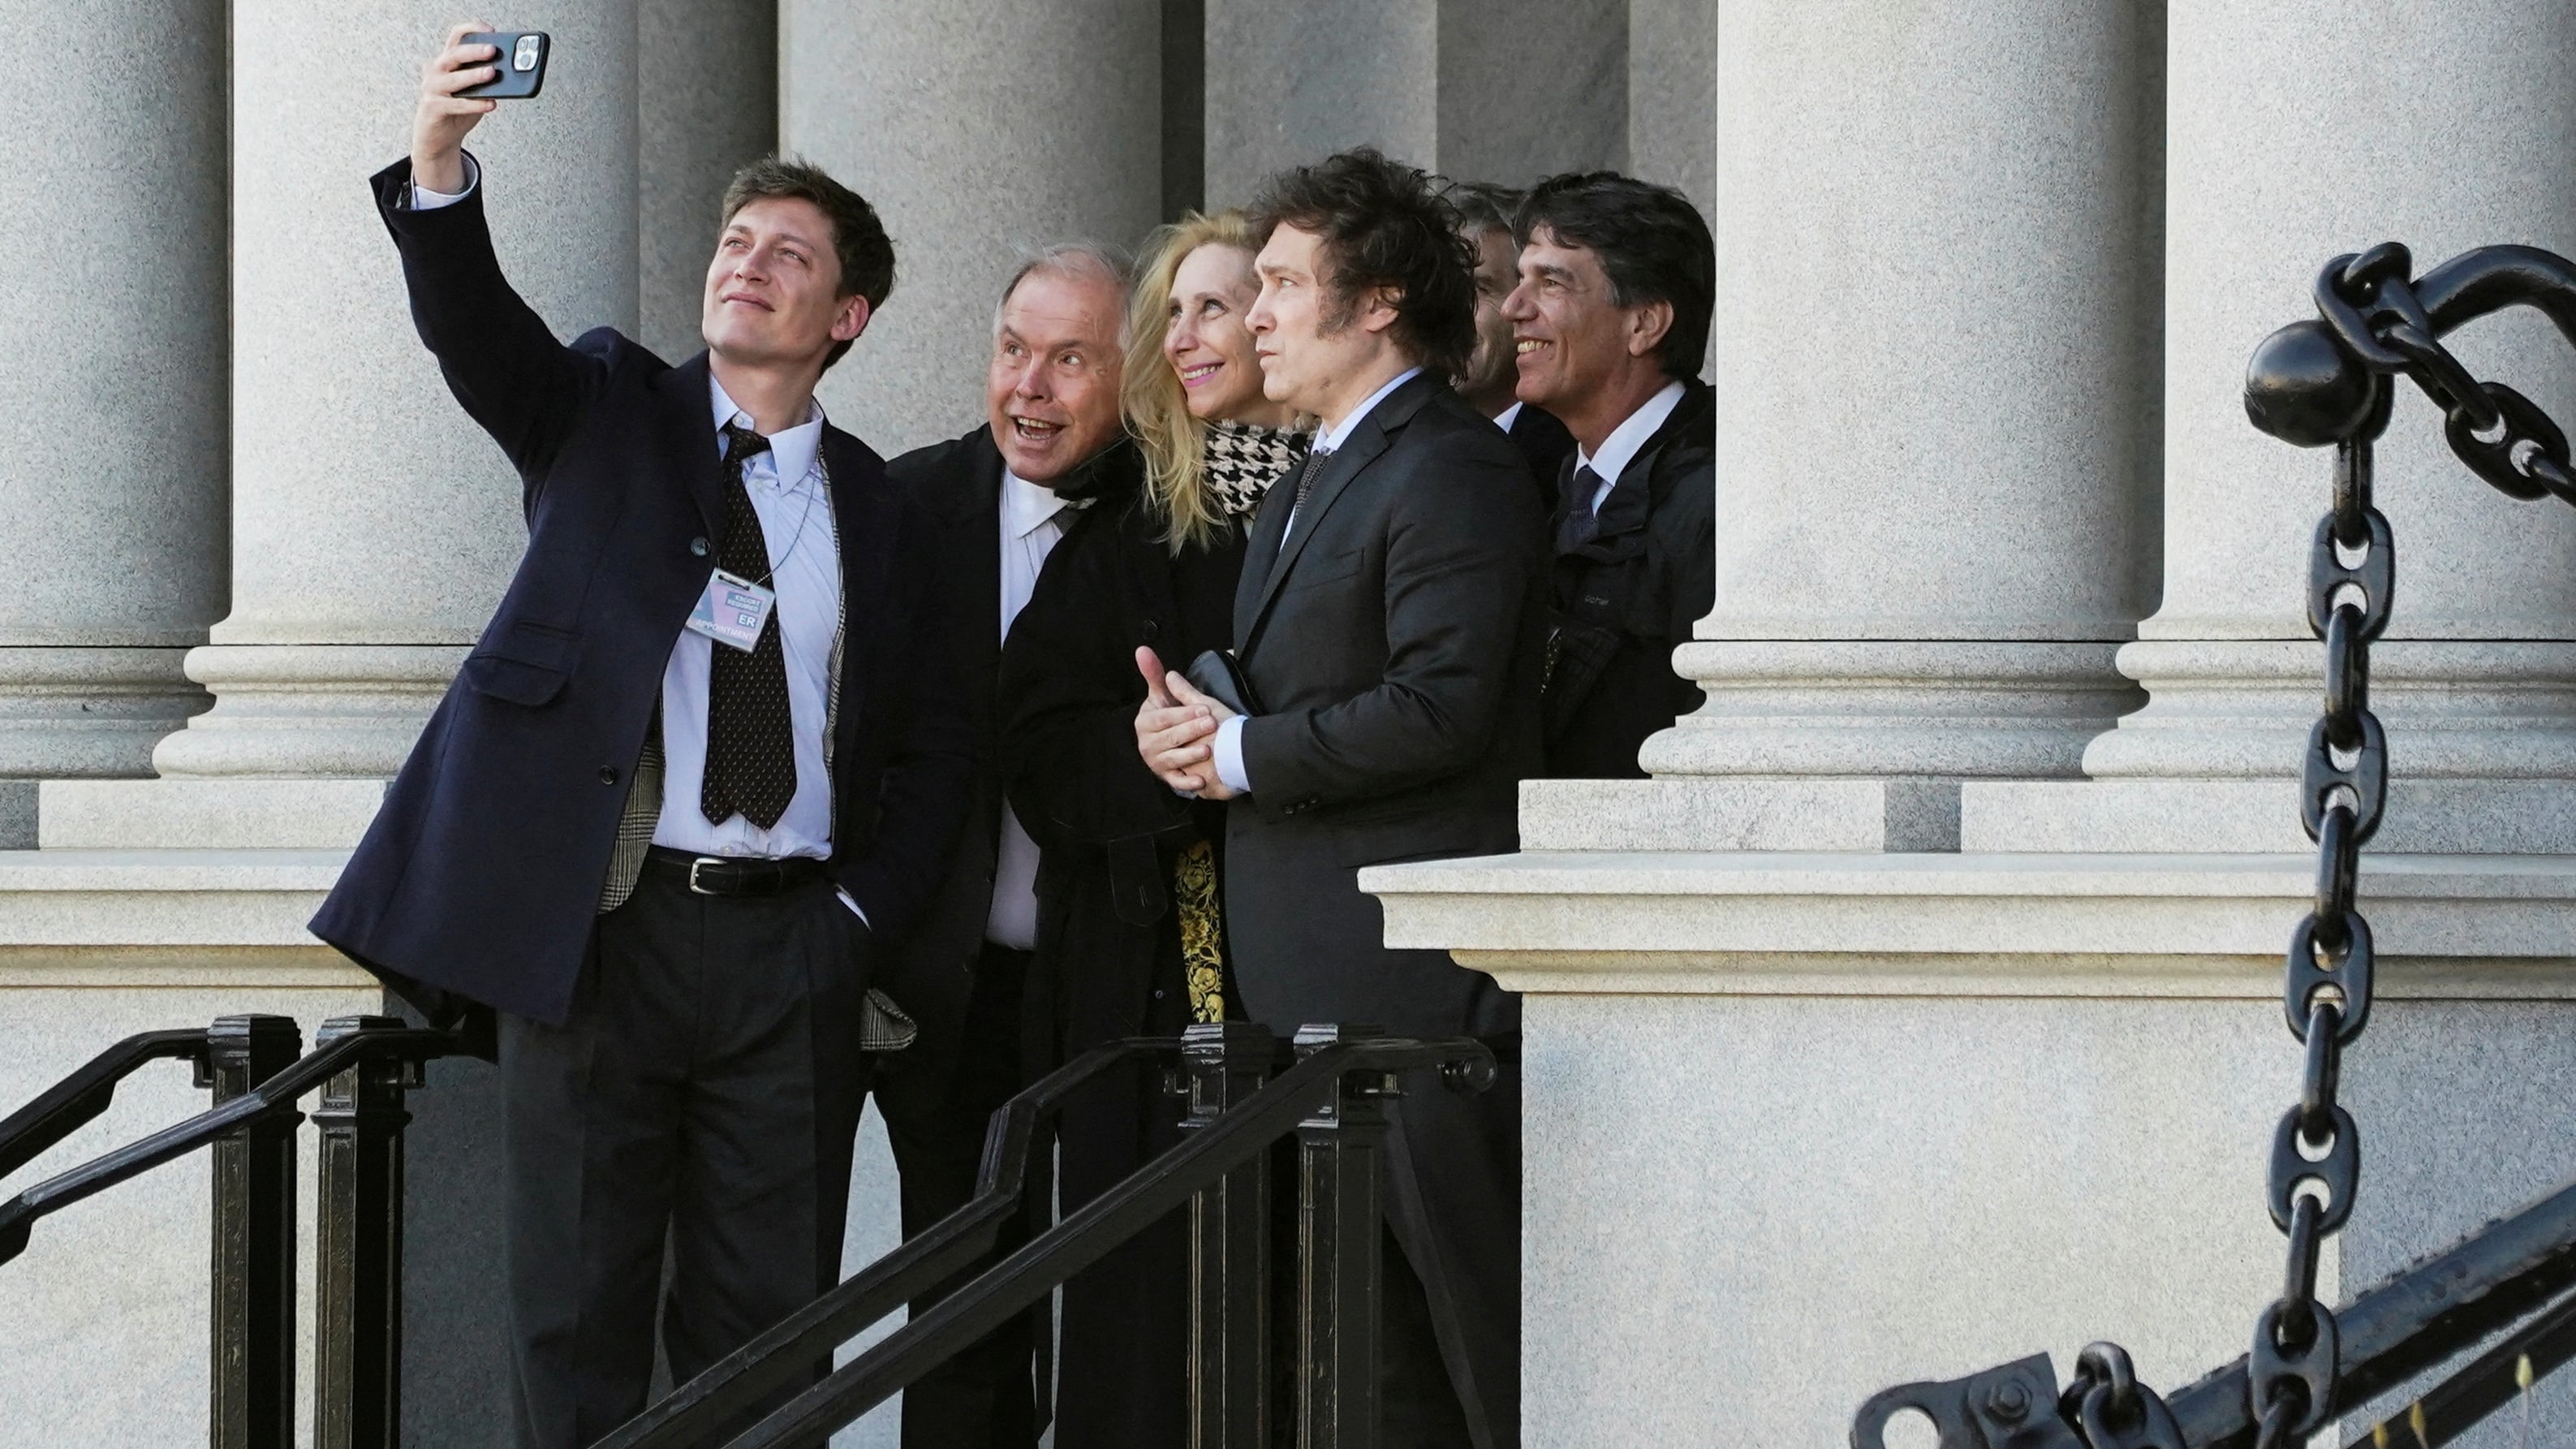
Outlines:
POLYGON ((698 330, 742 366, 822 366, 868 327, 868 299, 840 297, 832 219, 799 196, 747 201, 716 237, 698 330))

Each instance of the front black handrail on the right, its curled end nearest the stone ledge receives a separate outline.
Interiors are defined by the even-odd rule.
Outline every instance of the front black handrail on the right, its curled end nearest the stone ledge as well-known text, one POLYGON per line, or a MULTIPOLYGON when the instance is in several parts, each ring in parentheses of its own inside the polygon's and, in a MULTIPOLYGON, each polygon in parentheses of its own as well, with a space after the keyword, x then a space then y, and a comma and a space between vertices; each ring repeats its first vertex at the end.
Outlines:
MULTIPOLYGON (((1193 1132, 1180 1147, 1154 1158, 1025 1248, 943 1297, 858 1359, 732 1439, 729 1449, 783 1449, 819 1444, 835 1428, 868 1413, 933 1366, 948 1361, 1010 1318, 1025 1312, 1059 1284, 1090 1269, 1121 1243, 1146 1230, 1193 1194, 1216 1183, 1332 1098, 1347 1073, 1406 1073, 1443 1067, 1450 1085, 1484 1091, 1494 1080, 1494 1055, 1484 1042, 1455 1039, 1334 1039, 1306 1049, 1293 1067, 1255 1091, 1224 1116, 1193 1132)), ((685 1439, 652 1436, 621 1449, 677 1449, 685 1439)))

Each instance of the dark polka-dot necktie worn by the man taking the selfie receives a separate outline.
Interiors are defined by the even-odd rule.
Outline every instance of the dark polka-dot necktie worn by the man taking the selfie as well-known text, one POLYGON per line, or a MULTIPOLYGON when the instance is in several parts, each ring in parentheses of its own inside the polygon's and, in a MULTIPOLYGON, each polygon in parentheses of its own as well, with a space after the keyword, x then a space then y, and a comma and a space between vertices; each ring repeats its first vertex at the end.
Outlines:
MULTIPOLYGON (((737 423, 724 425, 724 572, 770 583, 770 539, 742 485, 742 464, 770 451, 770 441, 737 423)), ((768 830, 796 797, 796 727, 788 722, 788 657, 778 645, 778 608, 770 606, 760 642, 750 652, 714 645, 706 676, 706 776, 698 812, 721 825, 737 812, 768 830)))

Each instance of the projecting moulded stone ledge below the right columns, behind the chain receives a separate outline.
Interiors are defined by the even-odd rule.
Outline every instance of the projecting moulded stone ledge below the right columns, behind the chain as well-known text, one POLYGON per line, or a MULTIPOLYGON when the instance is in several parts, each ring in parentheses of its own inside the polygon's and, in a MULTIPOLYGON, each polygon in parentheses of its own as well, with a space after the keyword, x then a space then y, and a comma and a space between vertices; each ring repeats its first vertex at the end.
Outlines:
MULTIPOLYGON (((1533 993, 2244 995, 2303 856, 1522 853, 1370 866, 1391 946, 1533 993)), ((2375 856, 2391 995, 2576 998, 2576 856, 2375 856)))

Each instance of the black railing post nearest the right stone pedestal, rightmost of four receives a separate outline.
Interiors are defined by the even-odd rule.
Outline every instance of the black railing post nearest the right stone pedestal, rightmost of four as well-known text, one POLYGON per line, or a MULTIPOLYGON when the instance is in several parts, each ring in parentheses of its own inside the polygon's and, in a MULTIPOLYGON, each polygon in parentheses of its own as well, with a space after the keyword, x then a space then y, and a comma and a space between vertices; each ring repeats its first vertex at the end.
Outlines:
MULTIPOLYGON (((1301 1026, 1303 1057, 1383 1036, 1378 1026, 1301 1026)), ((1378 1449, 1378 1320, 1391 1073, 1342 1073, 1298 1122, 1298 1449, 1378 1449)))

